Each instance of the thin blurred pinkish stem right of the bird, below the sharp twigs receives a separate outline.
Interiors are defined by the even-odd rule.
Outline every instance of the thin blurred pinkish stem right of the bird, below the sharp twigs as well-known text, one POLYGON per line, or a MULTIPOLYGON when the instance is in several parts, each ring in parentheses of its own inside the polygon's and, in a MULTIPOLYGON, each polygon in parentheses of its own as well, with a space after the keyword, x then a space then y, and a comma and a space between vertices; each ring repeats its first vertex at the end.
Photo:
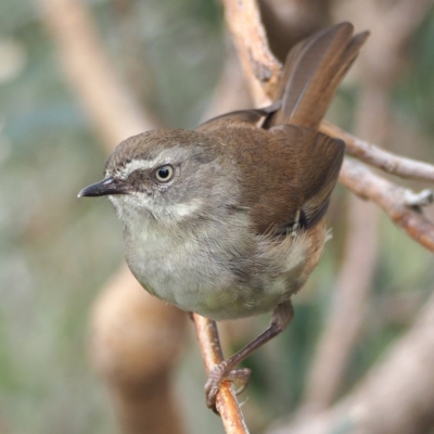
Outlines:
POLYGON ((363 331, 378 258, 378 216, 372 203, 349 197, 348 224, 336 289, 321 327, 301 412, 319 411, 335 398, 363 331))

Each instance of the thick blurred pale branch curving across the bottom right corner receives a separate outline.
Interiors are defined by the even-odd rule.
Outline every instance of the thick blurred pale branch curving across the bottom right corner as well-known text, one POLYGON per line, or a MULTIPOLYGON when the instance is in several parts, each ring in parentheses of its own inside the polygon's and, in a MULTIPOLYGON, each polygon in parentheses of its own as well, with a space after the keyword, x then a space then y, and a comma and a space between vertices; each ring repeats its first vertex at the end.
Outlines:
POLYGON ((268 434, 429 433, 434 423, 434 296, 360 385, 332 409, 268 434))

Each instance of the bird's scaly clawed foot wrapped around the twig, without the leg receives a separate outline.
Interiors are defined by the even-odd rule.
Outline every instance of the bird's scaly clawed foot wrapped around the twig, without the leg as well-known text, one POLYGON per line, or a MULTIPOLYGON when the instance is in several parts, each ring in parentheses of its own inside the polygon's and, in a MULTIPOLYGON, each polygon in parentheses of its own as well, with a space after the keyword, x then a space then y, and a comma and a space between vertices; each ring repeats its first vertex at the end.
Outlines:
POLYGON ((206 405, 218 414, 216 409, 216 396, 222 381, 231 381, 238 385, 237 395, 242 393, 248 384, 251 370, 248 368, 230 369, 224 360, 216 365, 208 374, 208 380, 205 383, 206 405))

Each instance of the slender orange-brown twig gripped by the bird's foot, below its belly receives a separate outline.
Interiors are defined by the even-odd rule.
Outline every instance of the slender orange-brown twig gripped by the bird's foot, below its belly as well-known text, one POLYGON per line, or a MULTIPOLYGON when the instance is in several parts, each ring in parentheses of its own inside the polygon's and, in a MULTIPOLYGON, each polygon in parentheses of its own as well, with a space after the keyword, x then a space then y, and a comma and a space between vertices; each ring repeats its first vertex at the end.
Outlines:
MULTIPOLYGON (((193 314, 193 320, 202 358, 206 372, 209 373, 215 365, 224 360, 217 326, 215 321, 197 314, 193 314)), ((216 406, 227 434, 248 434, 240 406, 233 394, 232 382, 224 381, 221 383, 217 394, 216 406)))

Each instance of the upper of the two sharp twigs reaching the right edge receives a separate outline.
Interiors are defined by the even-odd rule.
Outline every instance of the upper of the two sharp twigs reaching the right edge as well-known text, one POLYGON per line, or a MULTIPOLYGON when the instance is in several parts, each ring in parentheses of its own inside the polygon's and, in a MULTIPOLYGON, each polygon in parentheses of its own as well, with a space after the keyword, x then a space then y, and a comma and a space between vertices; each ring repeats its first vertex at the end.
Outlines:
POLYGON ((432 164, 395 155, 392 152, 360 140, 328 122, 321 124, 320 131, 324 135, 342 139, 346 143, 346 152, 349 155, 387 174, 406 179, 434 182, 434 165, 432 164))

